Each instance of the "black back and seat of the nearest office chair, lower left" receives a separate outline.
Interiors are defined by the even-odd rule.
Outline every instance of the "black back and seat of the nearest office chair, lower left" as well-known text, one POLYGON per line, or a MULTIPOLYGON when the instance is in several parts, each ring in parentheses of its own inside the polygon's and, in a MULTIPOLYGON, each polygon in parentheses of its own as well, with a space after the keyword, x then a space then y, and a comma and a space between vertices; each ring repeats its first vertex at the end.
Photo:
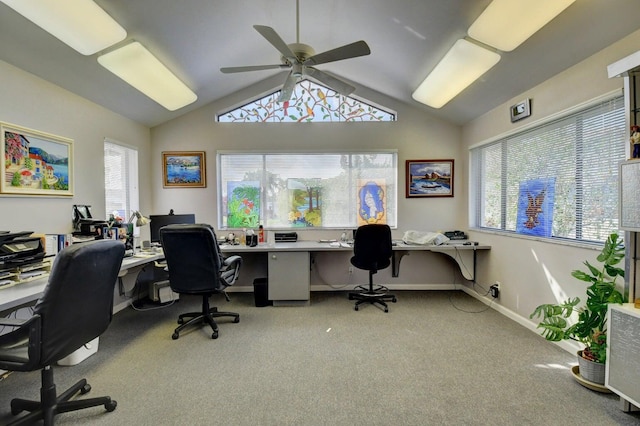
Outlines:
POLYGON ((124 245, 108 240, 75 244, 61 252, 28 323, 0 336, 0 368, 36 370, 102 334, 111 322, 123 256, 124 245))

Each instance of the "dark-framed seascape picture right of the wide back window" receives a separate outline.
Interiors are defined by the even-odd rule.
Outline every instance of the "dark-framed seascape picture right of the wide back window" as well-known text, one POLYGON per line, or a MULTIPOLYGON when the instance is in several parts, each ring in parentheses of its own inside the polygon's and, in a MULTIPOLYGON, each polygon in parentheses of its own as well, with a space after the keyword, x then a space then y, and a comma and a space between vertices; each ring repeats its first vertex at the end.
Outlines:
POLYGON ((453 160, 407 160, 406 198, 453 197, 453 160))

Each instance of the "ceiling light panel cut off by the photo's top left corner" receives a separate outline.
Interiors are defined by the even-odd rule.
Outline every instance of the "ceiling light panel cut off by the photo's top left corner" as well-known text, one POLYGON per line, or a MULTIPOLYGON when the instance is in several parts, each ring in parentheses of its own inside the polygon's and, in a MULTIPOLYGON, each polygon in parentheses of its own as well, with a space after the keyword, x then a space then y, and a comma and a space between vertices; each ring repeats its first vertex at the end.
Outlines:
POLYGON ((93 55, 127 32, 92 0, 0 0, 83 55, 93 55))

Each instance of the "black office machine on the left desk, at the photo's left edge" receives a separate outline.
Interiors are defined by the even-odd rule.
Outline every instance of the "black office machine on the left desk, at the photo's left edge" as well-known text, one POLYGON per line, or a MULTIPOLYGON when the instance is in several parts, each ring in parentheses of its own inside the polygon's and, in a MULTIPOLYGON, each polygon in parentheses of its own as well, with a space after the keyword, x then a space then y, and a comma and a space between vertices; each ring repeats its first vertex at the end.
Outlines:
POLYGON ((0 232, 0 270, 40 262, 44 246, 40 237, 31 231, 0 232))

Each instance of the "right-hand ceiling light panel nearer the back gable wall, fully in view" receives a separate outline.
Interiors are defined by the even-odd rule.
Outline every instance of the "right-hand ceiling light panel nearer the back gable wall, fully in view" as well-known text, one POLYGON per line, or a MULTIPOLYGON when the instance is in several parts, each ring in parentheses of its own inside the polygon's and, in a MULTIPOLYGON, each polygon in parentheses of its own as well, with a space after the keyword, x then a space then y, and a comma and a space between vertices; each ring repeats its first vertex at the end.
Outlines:
POLYGON ((496 52, 460 39, 411 96, 432 108, 441 108, 498 61, 496 52))

